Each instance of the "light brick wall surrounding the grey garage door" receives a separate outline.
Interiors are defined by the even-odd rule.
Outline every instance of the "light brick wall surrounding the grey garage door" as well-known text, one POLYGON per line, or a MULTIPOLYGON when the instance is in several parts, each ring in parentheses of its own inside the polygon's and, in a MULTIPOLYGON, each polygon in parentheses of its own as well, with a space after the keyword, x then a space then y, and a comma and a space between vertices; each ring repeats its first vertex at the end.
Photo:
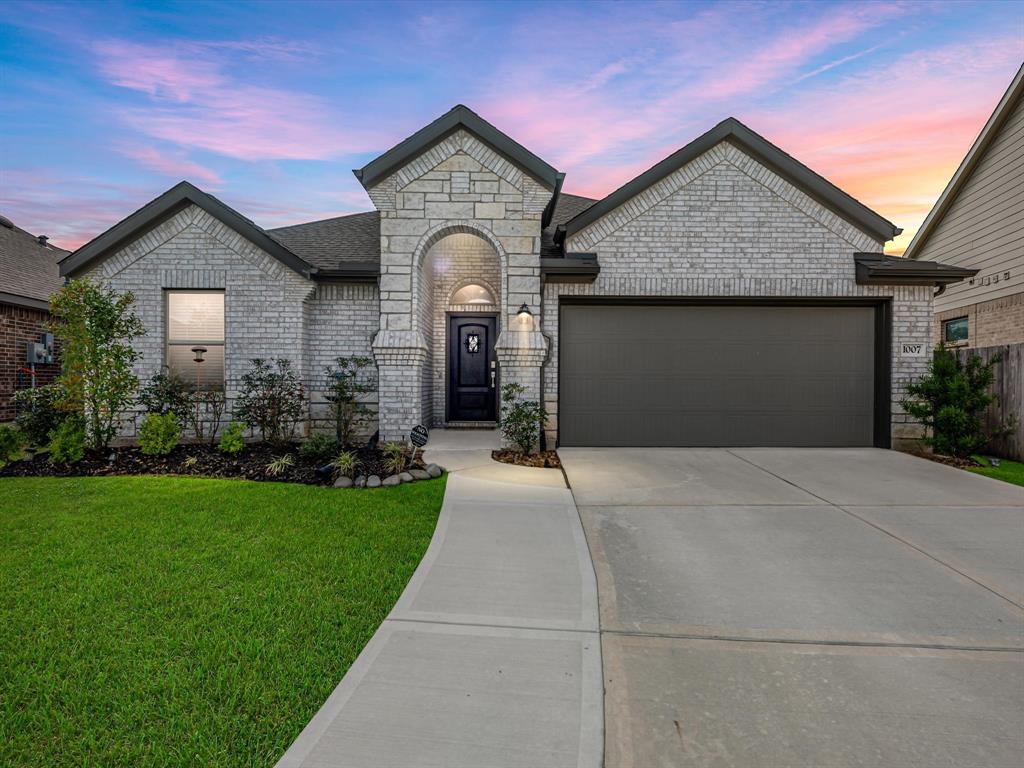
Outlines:
POLYGON ((732 144, 712 147, 566 243, 568 252, 596 252, 601 272, 592 285, 545 288, 549 443, 558 424, 559 297, 777 296, 892 298, 893 446, 913 444, 921 425, 899 399, 927 369, 934 289, 858 286, 853 254, 882 246, 732 144), (902 356, 903 342, 926 353, 902 356))

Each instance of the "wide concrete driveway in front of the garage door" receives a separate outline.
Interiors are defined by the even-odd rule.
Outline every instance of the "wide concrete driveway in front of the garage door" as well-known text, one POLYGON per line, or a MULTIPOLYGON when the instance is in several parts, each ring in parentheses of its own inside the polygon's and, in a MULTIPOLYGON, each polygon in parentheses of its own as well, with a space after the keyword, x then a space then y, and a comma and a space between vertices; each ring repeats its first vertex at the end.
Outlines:
POLYGON ((606 766, 1020 765, 1024 489, 870 449, 559 454, 606 766))

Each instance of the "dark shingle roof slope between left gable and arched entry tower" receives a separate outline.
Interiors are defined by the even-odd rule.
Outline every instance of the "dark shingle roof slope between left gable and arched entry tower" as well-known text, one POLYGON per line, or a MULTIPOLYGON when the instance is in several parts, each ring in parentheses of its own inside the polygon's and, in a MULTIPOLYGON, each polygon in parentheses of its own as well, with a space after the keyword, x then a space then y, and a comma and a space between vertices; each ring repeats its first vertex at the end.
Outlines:
POLYGON ((328 271, 381 258, 381 216, 378 211, 351 213, 305 224, 267 229, 299 258, 328 271))

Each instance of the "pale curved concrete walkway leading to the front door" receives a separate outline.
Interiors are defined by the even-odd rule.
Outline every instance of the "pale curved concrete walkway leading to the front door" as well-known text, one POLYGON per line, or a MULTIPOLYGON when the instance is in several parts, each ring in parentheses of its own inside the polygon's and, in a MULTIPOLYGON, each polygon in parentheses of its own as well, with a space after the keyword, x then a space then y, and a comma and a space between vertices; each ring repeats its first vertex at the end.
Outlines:
POLYGON ((398 603, 280 768, 597 768, 597 588, 558 470, 494 462, 493 432, 435 431, 452 470, 398 603))

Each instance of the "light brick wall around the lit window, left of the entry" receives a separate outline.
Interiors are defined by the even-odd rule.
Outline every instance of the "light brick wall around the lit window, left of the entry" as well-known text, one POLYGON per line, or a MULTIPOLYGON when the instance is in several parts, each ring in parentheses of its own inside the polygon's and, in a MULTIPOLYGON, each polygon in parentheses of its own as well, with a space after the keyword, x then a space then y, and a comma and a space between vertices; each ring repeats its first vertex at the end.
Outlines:
MULTIPOLYGON (((136 341, 143 384, 164 366, 165 290, 223 290, 229 403, 252 358, 283 357, 307 383, 322 419, 323 398, 317 411, 309 383, 323 382, 324 366, 339 355, 369 355, 378 322, 376 287, 317 286, 194 205, 93 265, 88 276, 134 293, 146 330, 136 341)), ((128 415, 125 436, 134 435, 137 416, 128 415)))

